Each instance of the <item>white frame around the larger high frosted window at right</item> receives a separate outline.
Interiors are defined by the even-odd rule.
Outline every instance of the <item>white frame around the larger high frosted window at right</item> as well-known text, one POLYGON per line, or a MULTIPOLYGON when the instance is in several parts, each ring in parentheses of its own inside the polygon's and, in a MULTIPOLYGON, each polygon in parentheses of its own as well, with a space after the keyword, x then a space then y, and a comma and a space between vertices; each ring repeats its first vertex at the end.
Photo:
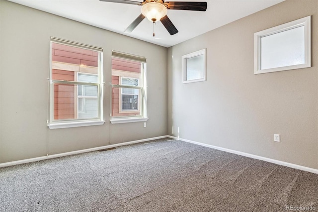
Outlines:
POLYGON ((291 21, 289 23, 285 23, 254 33, 254 74, 263 74, 308 67, 311 67, 311 16, 307 16, 298 20, 291 21), (274 67, 270 69, 261 69, 261 38, 301 26, 305 27, 305 63, 284 67, 274 67))

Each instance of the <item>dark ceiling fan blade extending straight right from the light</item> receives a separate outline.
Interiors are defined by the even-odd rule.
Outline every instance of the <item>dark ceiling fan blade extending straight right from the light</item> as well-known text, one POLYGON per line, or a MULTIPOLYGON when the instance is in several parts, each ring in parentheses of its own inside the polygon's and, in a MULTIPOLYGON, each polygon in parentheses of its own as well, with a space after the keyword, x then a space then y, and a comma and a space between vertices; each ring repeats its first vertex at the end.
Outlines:
POLYGON ((168 9, 181 9, 181 10, 195 10, 195 11, 205 11, 207 10, 207 2, 199 1, 166 1, 164 5, 168 9))

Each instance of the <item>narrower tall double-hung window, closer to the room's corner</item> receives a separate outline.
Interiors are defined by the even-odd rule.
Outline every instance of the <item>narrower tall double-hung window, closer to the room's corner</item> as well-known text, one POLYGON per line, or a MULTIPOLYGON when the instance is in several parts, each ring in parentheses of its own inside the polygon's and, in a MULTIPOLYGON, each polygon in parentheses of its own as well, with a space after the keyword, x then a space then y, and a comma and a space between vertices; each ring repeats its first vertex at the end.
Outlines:
POLYGON ((112 52, 111 123, 148 120, 146 58, 112 52))

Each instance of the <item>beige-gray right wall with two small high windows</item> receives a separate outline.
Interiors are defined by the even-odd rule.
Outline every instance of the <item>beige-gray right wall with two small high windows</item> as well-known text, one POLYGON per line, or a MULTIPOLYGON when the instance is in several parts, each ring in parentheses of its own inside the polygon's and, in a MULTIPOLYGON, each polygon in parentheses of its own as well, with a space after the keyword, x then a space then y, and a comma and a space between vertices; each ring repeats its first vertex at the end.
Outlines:
POLYGON ((168 134, 317 169, 317 45, 318 1, 286 0, 170 47, 168 134), (312 67, 254 75, 254 32, 308 15, 312 67), (207 81, 181 84, 181 56, 203 48, 207 81))

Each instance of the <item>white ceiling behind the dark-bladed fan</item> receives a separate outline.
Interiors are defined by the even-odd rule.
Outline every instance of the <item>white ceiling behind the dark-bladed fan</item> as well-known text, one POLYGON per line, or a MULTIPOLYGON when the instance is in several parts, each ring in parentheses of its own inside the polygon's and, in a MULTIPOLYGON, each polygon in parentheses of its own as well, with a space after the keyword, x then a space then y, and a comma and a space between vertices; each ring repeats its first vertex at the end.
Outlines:
MULTIPOLYGON (((99 0, 9 0, 92 26, 170 47, 227 23, 238 20, 284 0, 166 0, 207 1, 207 10, 168 9, 167 16, 178 29, 170 35, 161 22, 155 25, 145 18, 131 33, 124 30, 141 14, 141 6, 99 0)), ((139 1, 139 0, 137 0, 139 1)))

